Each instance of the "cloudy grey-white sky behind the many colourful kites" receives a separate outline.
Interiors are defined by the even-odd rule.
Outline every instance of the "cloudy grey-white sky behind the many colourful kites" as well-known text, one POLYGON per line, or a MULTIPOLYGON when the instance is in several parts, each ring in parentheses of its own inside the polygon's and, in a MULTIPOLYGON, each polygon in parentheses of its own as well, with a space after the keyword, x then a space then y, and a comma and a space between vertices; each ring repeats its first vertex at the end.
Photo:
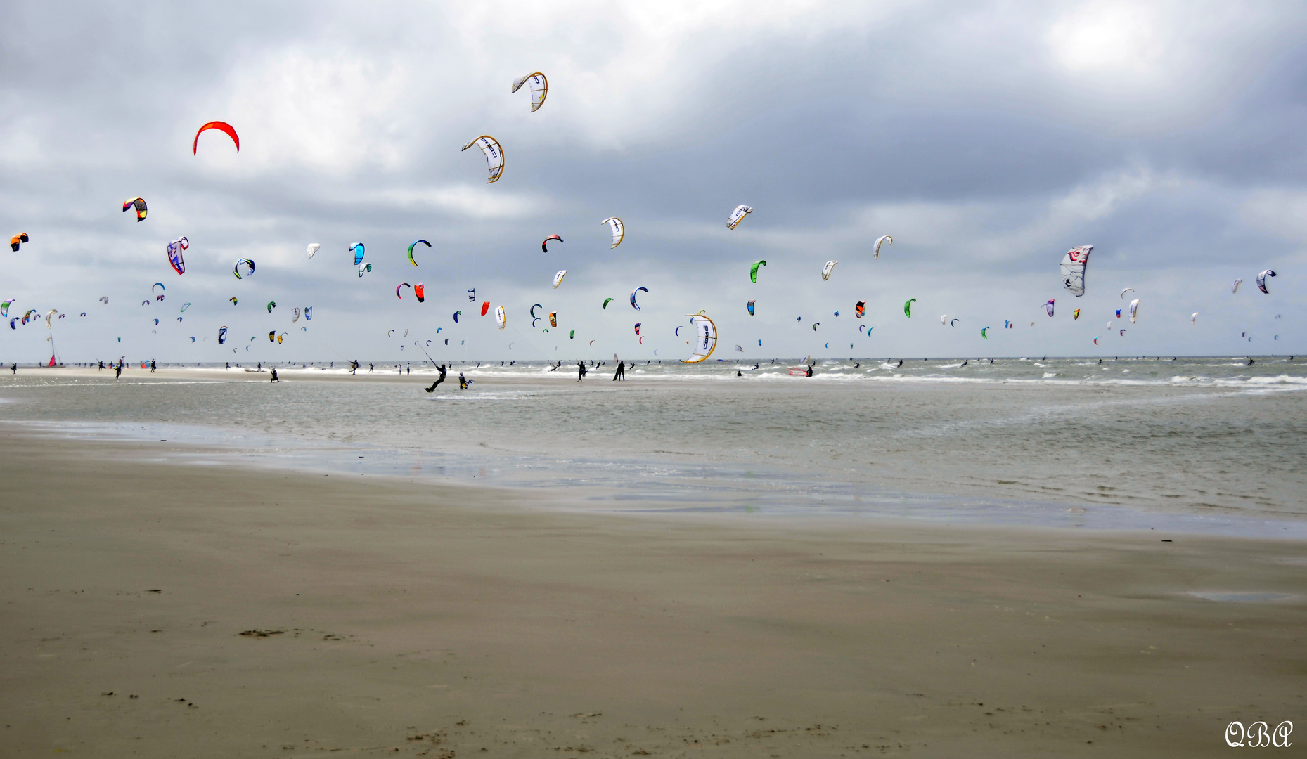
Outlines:
MULTIPOLYGON (((5 251, 0 299, 68 314, 65 362, 393 362, 423 358, 414 340, 438 359, 681 358, 673 331, 701 310, 714 358, 1307 353, 1304 20, 1231 1, 7 3, 0 219, 31 242, 5 251), (535 114, 510 94, 533 71, 535 114), (239 153, 210 131, 192 155, 210 120, 239 153), (494 184, 459 150, 478 135, 503 145, 494 184), (549 234, 566 242, 542 253, 549 234), (1080 244, 1076 298, 1059 261, 1080 244), (240 257, 257 272, 238 281, 240 257), (395 298, 420 281, 425 303, 395 298), (165 302, 141 306, 154 282, 165 302), (1114 312, 1127 286, 1136 324, 1114 312), (531 327, 533 303, 557 329, 531 327)), ((5 319, 0 359, 48 359, 47 334, 5 319)))

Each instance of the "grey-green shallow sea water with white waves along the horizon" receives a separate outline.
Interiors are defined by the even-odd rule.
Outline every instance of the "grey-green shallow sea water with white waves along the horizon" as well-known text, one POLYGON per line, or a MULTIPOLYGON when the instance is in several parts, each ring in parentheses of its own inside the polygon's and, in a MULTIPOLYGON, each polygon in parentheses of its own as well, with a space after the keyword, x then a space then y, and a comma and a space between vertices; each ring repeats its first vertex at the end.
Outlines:
MULTIPOLYGON (((0 378, 0 421, 240 462, 546 489, 572 508, 1307 537, 1297 358, 127 370, 0 378), (457 374, 476 380, 457 389, 457 374), (737 375, 738 372, 738 375, 737 375)), ((221 368, 221 367, 220 367, 221 368)), ((380 485, 379 485, 380 487, 380 485)), ((558 499, 555 499, 558 500, 558 499)))

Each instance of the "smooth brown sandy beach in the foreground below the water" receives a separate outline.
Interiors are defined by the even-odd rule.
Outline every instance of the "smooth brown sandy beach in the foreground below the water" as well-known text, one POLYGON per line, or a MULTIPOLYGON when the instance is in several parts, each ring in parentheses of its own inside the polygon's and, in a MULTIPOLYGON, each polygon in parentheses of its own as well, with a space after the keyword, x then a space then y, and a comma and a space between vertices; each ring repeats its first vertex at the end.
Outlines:
POLYGON ((167 449, 0 440, 4 756, 1199 756, 1304 719, 1300 543, 569 513, 167 449))

